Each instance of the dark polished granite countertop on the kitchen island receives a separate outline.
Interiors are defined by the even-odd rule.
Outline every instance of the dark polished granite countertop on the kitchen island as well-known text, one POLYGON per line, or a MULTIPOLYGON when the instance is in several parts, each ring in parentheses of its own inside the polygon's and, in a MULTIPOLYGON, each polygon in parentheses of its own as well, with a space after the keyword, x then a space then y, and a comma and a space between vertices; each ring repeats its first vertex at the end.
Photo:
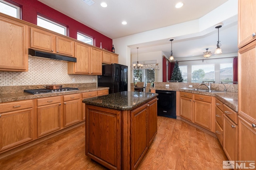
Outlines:
POLYGON ((156 96, 158 96, 156 93, 125 91, 84 99, 83 103, 116 110, 132 110, 147 103, 156 96))

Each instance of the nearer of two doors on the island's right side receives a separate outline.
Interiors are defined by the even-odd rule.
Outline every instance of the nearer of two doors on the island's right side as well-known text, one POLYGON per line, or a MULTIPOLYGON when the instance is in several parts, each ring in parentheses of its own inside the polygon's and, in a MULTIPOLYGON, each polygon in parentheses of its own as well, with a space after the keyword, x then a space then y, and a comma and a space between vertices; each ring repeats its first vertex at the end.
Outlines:
POLYGON ((147 105, 131 111, 132 114, 132 168, 136 169, 138 162, 148 150, 148 116, 147 105))

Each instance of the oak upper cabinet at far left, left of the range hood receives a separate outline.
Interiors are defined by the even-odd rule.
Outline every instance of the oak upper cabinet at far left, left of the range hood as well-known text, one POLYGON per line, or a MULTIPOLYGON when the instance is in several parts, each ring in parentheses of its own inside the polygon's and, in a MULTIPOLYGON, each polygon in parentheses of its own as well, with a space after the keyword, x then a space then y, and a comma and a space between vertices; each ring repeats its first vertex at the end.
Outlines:
POLYGON ((0 16, 0 70, 28 71, 28 26, 0 16))

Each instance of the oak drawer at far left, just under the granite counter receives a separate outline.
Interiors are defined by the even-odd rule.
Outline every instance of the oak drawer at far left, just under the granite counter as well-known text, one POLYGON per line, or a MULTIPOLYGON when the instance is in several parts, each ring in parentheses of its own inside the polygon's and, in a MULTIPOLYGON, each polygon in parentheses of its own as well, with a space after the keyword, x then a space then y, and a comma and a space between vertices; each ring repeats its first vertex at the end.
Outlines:
POLYGON ((8 103, 0 104, 0 113, 21 110, 21 109, 27 109, 27 108, 31 108, 31 107, 33 107, 32 100, 24 100, 24 101, 20 101, 20 102, 8 102, 8 103))

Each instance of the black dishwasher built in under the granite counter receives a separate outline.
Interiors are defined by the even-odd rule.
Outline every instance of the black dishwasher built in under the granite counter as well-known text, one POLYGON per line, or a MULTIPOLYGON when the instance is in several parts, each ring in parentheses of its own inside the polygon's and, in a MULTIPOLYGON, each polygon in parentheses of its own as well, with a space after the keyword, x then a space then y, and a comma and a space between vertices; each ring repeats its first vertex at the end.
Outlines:
POLYGON ((156 90, 157 115, 176 119, 176 91, 156 90))

